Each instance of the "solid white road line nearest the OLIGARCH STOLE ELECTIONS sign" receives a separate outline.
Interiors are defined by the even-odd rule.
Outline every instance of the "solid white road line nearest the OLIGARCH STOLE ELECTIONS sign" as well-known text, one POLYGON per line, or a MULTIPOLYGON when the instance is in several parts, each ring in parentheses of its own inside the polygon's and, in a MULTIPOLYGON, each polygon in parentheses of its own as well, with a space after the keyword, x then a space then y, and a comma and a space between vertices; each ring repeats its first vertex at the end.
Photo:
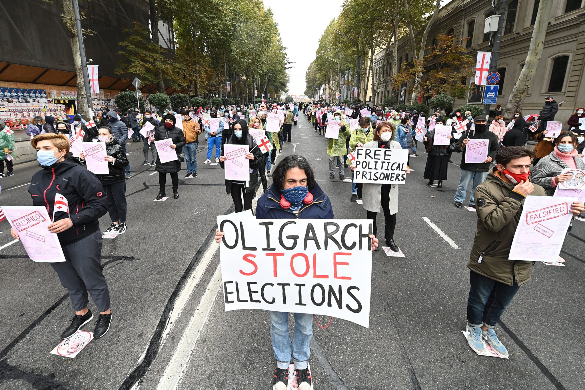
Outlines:
POLYGON ((201 302, 199 302, 199 306, 195 309, 189 325, 185 329, 185 333, 181 336, 181 340, 177 345, 171 361, 168 363, 163 376, 160 378, 157 390, 178 389, 181 379, 183 379, 183 374, 187 370, 195 344, 197 344, 197 340, 207 322, 209 313, 211 313, 211 309, 214 306, 219 287, 221 287, 221 267, 218 266, 207 286, 205 294, 201 298, 201 302))

